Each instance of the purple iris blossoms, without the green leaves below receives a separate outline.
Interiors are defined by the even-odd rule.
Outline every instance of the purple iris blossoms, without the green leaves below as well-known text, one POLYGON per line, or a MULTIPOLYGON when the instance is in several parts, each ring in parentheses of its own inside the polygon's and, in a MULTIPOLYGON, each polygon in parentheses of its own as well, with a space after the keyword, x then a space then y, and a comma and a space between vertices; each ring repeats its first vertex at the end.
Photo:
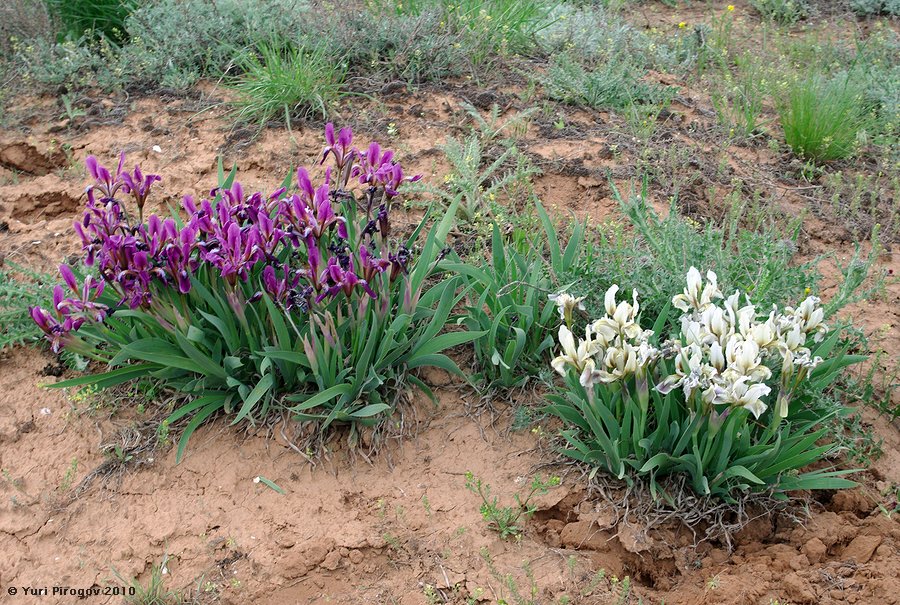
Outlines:
POLYGON ((183 221, 156 214, 144 219, 159 175, 140 166, 125 170, 124 153, 114 171, 88 156, 93 184, 73 228, 84 264, 96 275, 79 286, 72 270, 61 266, 63 285, 54 290, 53 307, 31 309, 53 350, 71 342, 85 323, 103 322, 115 310, 98 302, 104 292, 114 293, 119 306, 159 312, 159 304, 175 304, 172 296, 189 296, 201 271, 202 279, 222 280, 215 287, 224 288, 229 301, 252 304, 267 294, 288 312, 379 296, 386 305, 390 284, 407 273, 411 258, 406 247, 389 241, 391 199, 419 177, 404 176, 394 153, 378 143, 360 152, 350 128, 335 132, 329 123, 325 141, 320 163, 331 159, 334 171, 328 166, 318 184, 305 168, 297 170, 294 191, 281 186, 251 193, 233 182, 199 202, 184 196, 183 221), (366 216, 359 224, 350 218, 357 207, 351 176, 364 186, 366 216), (136 220, 129 207, 136 207, 136 220), (382 274, 389 279, 379 279, 382 274))

